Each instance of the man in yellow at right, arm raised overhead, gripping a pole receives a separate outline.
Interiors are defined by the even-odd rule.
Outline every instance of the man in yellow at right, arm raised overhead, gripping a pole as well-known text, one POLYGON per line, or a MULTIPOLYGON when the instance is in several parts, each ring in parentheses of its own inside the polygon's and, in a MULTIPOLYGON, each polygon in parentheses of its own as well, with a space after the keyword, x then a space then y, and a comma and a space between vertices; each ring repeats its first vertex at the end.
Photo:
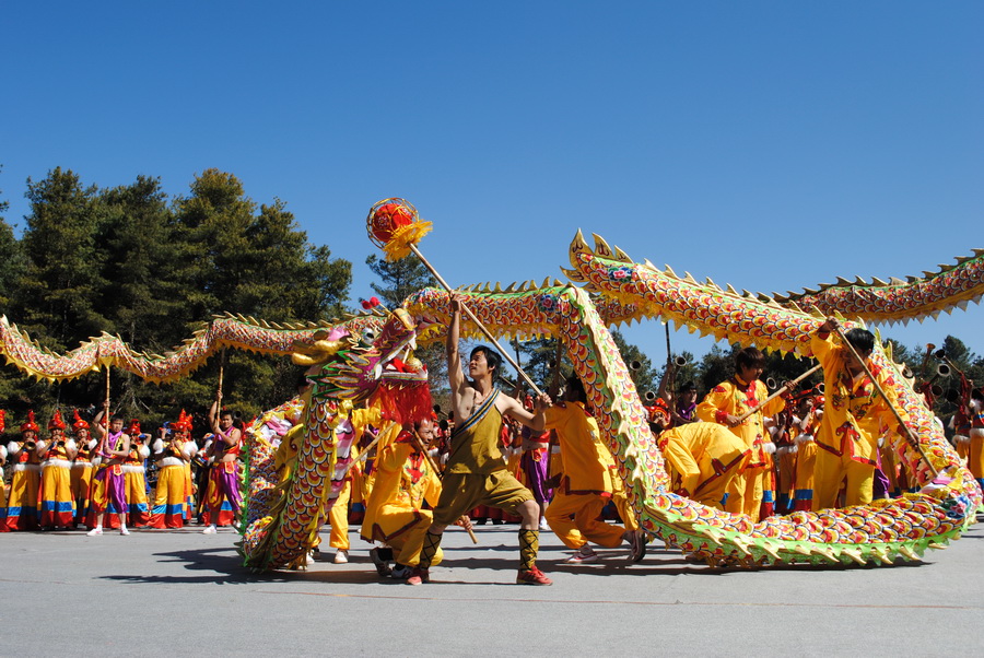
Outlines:
MULTIPOLYGON (((836 506, 841 483, 846 478, 844 504, 867 505, 874 497, 875 468, 878 466, 878 437, 882 427, 899 432, 899 422, 875 384, 865 374, 845 345, 835 345, 831 332, 837 328, 828 318, 810 338, 813 356, 823 366, 823 390, 827 403, 817 434, 815 467, 815 509, 836 506)), ((881 389, 895 407, 903 421, 907 414, 898 407, 898 395, 891 372, 871 363, 868 357, 875 348, 875 336, 865 329, 852 329, 845 334, 881 389)))

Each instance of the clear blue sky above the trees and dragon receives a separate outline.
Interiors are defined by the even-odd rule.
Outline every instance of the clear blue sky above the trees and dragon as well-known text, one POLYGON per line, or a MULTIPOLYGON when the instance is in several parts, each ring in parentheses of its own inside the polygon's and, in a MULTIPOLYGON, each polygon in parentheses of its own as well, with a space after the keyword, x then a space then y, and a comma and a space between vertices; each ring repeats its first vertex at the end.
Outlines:
MULTIPOLYGON (((402 196, 453 285, 561 277, 581 228, 755 291, 984 247, 980 2, 7 2, 0 199, 218 167, 355 266, 402 196)), ((984 312, 885 333, 984 354, 984 312)), ((626 338, 665 357, 661 326, 626 338)), ((673 348, 712 344, 686 331, 673 348)))

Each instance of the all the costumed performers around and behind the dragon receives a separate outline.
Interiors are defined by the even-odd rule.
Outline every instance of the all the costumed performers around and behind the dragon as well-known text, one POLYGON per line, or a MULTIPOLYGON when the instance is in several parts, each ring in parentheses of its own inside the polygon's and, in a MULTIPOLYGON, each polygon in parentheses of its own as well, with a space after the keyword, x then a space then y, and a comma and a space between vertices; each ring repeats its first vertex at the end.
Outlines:
MULTIPOLYGON (((500 391, 493 381, 502 360, 487 346, 476 348, 462 367, 460 304, 453 298, 447 333, 449 413, 441 418, 435 408, 433 418, 402 427, 382 427, 378 414, 366 409, 350 419, 365 454, 355 459, 339 498, 324 515, 331 526, 333 562, 349 561, 353 520, 361 521, 361 537, 375 544, 370 556, 379 576, 410 585, 427 583, 431 567, 444 559, 447 526, 471 531, 475 522, 488 520, 518 522, 519 584, 551 584, 536 566, 541 531, 553 532, 570 549, 570 564, 600 561, 591 544, 624 544, 631 562, 642 560, 646 537, 595 420, 604 410, 589 407, 576 375, 566 378, 563 390, 554 387, 536 399, 500 391), (372 439, 373 430, 390 436, 372 439), (373 448, 374 442, 380 447, 373 448)), ((837 332, 836 321, 829 319, 811 339, 823 368, 822 388, 800 390, 789 384, 785 395, 770 399, 760 379, 765 359, 754 348, 738 352, 735 375, 700 401, 692 384, 677 390, 661 386, 647 409, 672 490, 753 520, 863 505, 910 491, 914 483, 889 448, 903 430, 900 422, 907 422, 897 404, 893 374, 870 361, 870 332, 848 331, 844 338, 853 350, 836 340, 837 332)), ((956 444, 984 485, 984 396, 965 388, 953 420, 956 444)), ((210 442, 201 449, 184 411, 150 445, 136 422, 124 427, 113 418, 105 427, 106 410, 93 421, 94 436, 78 412, 71 436, 66 435, 56 413, 45 439, 38 438, 32 414, 21 438, 0 451, 11 471, 2 527, 84 525, 90 534, 102 533, 104 524, 124 534, 128 524, 180 528, 195 516, 196 490, 206 492, 198 502, 204 532, 232 524, 241 506, 243 434, 220 408, 221 393, 209 412, 210 442), (150 503, 144 459, 157 468, 150 503), (192 463, 208 473, 197 487, 192 463)), ((302 426, 300 419, 293 422, 274 433, 282 480, 298 448, 302 426)), ((351 457, 358 455, 356 448, 351 457)), ((314 553, 319 552, 316 547, 314 553)))

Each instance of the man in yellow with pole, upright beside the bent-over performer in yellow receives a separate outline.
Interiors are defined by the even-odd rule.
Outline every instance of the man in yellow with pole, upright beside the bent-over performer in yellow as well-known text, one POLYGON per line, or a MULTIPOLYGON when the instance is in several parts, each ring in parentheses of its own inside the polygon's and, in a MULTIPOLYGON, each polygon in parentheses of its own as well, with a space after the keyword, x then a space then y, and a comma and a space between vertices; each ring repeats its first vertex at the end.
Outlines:
POLYGON ((759 520, 765 495, 765 474, 772 468, 771 451, 774 446, 765 431, 765 418, 778 413, 786 406, 781 397, 762 406, 769 397, 769 389, 759 380, 764 367, 765 356, 762 352, 755 348, 741 350, 735 357, 736 375, 715 386, 698 404, 696 410, 700 420, 726 425, 751 450, 745 467, 727 489, 725 510, 746 514, 752 521, 759 520), (738 421, 739 416, 752 409, 758 409, 759 413, 738 421))

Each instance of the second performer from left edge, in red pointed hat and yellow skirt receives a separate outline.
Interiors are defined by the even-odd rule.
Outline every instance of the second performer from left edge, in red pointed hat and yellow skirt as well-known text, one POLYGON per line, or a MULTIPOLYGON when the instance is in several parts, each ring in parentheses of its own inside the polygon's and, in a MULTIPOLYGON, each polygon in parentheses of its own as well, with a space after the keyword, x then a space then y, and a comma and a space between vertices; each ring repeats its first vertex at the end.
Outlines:
POLYGON ((48 422, 50 436, 47 442, 38 442, 44 455, 42 463, 40 527, 66 528, 75 520, 75 501, 72 496, 72 459, 77 444, 65 437, 65 421, 61 412, 48 422))

